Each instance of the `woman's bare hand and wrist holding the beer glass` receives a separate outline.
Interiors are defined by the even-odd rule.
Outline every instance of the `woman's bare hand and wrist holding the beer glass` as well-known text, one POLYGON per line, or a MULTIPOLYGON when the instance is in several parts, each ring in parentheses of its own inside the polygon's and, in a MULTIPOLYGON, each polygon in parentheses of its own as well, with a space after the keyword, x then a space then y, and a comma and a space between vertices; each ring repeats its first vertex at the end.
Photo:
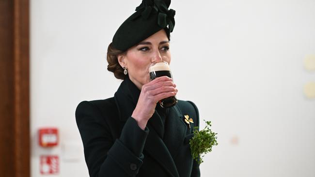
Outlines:
POLYGON ((173 79, 167 76, 157 77, 142 86, 137 106, 131 115, 142 130, 152 117, 157 102, 176 95, 178 90, 175 87, 173 79))

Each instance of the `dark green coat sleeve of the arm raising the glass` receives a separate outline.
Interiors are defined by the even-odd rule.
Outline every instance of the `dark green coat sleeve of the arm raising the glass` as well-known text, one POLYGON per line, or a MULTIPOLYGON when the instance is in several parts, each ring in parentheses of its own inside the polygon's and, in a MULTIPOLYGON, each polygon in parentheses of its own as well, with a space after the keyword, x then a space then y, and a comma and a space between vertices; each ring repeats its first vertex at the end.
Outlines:
POLYGON ((129 117, 119 139, 113 140, 108 124, 93 103, 79 103, 76 121, 90 177, 135 177, 142 165, 146 137, 129 117))

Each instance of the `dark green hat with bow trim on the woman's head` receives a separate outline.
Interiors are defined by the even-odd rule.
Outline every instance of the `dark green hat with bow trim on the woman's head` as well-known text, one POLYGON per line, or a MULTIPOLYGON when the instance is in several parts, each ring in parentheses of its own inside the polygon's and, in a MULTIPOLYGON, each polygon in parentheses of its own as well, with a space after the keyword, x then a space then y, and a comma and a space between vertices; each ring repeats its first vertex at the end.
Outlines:
POLYGON ((126 51, 161 29, 165 29, 170 39, 175 26, 175 11, 168 10, 170 4, 171 0, 142 0, 136 12, 117 29, 112 39, 113 47, 126 51))

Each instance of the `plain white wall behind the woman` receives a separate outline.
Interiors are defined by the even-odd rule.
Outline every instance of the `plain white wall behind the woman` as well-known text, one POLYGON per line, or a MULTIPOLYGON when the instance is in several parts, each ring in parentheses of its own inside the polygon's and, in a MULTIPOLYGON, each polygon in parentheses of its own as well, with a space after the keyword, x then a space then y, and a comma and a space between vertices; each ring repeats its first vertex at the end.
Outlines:
MULTIPOLYGON (((31 0, 32 177, 45 154, 60 156, 58 177, 88 176, 75 109, 118 88, 107 46, 140 2, 31 0), (60 129, 60 146, 37 145, 42 126, 60 129)), ((314 177, 315 99, 303 87, 315 72, 303 60, 315 55, 315 1, 173 0, 171 8, 178 98, 196 103, 218 133, 202 176, 314 177)))

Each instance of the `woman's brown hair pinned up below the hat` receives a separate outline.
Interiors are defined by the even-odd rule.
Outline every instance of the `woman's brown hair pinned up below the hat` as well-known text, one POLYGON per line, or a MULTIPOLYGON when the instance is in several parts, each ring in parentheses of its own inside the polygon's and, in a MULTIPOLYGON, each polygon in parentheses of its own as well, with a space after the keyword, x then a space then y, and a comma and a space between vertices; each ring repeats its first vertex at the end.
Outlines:
POLYGON ((112 46, 112 43, 108 46, 107 49, 107 70, 114 73, 114 76, 117 79, 125 80, 126 76, 124 74, 124 69, 120 66, 117 55, 125 54, 125 51, 118 50, 112 46))

